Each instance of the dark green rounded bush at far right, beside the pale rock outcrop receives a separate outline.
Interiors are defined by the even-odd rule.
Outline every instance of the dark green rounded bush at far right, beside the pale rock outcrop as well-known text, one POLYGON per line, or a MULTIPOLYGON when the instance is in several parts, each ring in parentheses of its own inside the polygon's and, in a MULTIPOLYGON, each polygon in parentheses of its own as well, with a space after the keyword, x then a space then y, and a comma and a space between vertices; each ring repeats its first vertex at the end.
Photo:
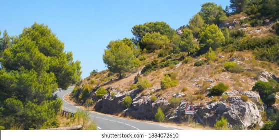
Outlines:
POLYGON ((275 89, 269 81, 257 81, 252 90, 258 92, 263 103, 271 105, 275 102, 275 89))

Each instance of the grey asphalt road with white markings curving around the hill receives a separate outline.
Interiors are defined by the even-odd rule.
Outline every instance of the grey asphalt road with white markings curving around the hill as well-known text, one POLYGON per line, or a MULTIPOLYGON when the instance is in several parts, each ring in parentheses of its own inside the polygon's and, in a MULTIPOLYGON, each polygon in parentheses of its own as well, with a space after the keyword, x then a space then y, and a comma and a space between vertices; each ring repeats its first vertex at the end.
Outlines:
MULTIPOLYGON (((57 95, 63 99, 63 108, 66 111, 76 112, 78 107, 67 102, 64 99, 64 95, 73 90, 68 88, 67 90, 57 91, 57 95)), ((100 130, 177 130, 174 127, 158 124, 143 122, 138 120, 130 120, 110 115, 100 114, 97 112, 90 111, 90 116, 97 123, 97 128, 100 130)))

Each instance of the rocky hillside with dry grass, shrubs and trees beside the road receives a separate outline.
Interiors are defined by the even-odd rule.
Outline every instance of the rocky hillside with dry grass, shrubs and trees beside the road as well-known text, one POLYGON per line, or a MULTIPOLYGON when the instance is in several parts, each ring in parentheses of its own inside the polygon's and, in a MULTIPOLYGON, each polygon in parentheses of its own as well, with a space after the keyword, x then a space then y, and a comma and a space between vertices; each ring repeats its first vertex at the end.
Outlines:
POLYGON ((247 10, 225 13, 208 2, 176 30, 158 21, 135 25, 135 37, 109 42, 108 69, 93 70, 72 99, 90 110, 176 123, 187 121, 191 102, 193 121, 203 125, 277 129, 279 23, 264 9, 247 10), (214 19, 209 7, 218 11, 214 19), (228 126, 215 125, 222 117, 228 126))

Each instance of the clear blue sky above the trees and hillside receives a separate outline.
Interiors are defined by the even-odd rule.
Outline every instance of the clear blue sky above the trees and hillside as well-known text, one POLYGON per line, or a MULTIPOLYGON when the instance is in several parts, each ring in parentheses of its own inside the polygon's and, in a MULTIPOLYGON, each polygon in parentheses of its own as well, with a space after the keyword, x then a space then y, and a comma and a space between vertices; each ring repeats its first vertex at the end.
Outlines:
POLYGON ((106 69, 102 56, 110 40, 131 38, 136 24, 165 21, 176 29, 188 23, 200 5, 229 0, 0 0, 0 30, 18 35, 34 22, 44 23, 90 71, 106 69))

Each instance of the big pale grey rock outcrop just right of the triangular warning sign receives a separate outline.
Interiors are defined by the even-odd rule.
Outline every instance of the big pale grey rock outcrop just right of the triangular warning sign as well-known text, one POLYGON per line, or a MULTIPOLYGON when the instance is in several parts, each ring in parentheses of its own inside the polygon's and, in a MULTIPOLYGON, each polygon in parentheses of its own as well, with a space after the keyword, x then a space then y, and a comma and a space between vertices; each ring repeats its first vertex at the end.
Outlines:
POLYGON ((205 104, 197 110, 195 119, 199 117, 202 123, 212 127, 221 116, 227 118, 230 126, 240 125, 243 128, 251 128, 260 122, 261 115, 254 102, 244 102, 240 96, 230 96, 226 101, 205 104))

